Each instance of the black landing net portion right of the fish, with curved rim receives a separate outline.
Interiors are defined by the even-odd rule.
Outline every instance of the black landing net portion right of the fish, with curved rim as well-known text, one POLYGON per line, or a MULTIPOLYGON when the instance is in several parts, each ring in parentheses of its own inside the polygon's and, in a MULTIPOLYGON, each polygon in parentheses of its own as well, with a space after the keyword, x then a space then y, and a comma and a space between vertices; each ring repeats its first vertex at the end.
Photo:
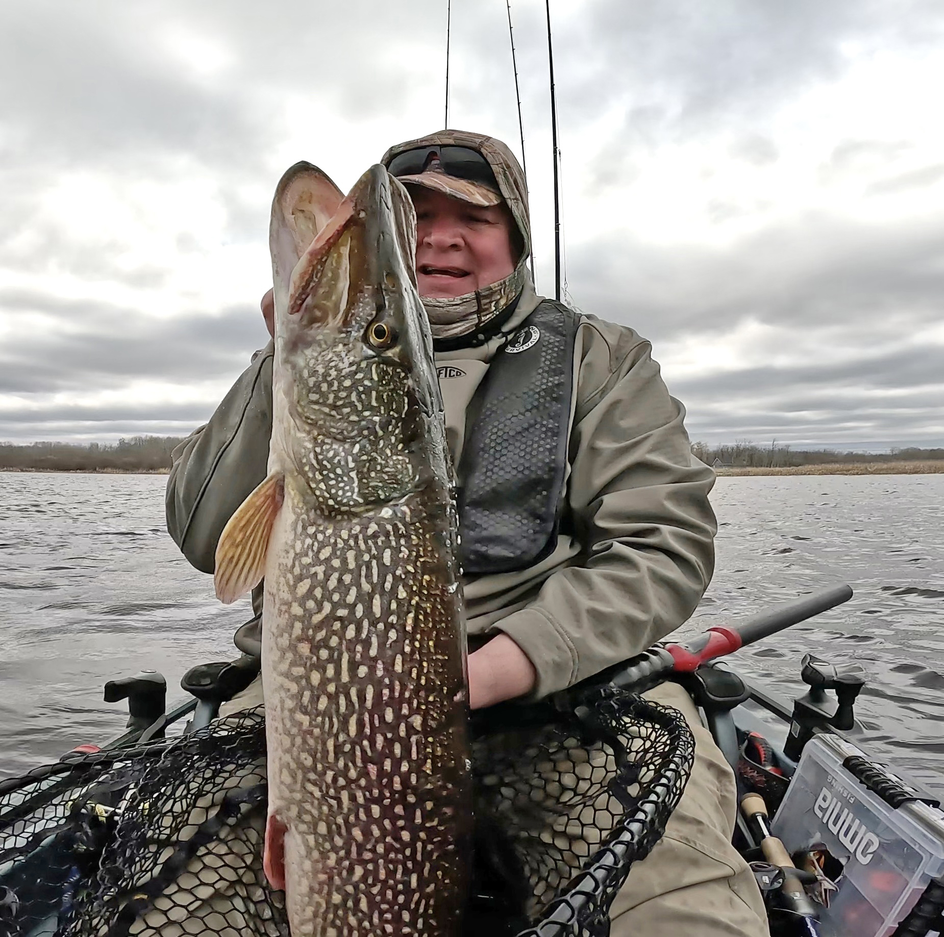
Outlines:
POLYGON ((683 794, 691 730, 678 711, 632 694, 554 718, 539 707, 516 720, 504 708, 486 712, 473 743, 480 851, 504 846, 522 937, 607 934, 616 892, 683 794))

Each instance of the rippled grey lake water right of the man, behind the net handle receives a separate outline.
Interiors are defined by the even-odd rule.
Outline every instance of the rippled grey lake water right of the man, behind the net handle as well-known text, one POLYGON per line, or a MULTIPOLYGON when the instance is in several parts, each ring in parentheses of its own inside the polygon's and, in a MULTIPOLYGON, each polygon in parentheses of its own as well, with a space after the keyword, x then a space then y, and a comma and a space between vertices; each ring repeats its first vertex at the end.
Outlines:
MULTIPOLYGON (((719 478, 699 629, 848 582, 850 602, 738 651, 790 697, 806 652, 859 661, 868 751, 944 794, 944 475, 719 478)), ((687 630, 687 628, 686 628, 687 630)))

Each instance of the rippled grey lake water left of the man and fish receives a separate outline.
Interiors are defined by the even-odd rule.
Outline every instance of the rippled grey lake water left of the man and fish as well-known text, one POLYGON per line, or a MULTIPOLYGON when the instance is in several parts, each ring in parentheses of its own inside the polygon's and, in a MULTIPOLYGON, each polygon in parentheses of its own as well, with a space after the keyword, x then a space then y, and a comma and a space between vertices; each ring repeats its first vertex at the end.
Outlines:
POLYGON ((222 606, 180 555, 166 481, 0 473, 0 776, 119 734, 107 680, 160 670, 176 700, 191 665, 238 655, 248 601, 222 606))

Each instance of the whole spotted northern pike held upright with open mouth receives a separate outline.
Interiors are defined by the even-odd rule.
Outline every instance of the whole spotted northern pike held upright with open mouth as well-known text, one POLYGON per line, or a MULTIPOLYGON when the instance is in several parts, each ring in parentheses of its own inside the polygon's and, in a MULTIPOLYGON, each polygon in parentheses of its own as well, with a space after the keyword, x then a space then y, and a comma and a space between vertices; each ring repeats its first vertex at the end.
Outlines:
POLYGON ((269 475, 216 552, 264 576, 265 869, 293 937, 458 932, 471 776, 446 429, 409 194, 278 183, 269 475))

